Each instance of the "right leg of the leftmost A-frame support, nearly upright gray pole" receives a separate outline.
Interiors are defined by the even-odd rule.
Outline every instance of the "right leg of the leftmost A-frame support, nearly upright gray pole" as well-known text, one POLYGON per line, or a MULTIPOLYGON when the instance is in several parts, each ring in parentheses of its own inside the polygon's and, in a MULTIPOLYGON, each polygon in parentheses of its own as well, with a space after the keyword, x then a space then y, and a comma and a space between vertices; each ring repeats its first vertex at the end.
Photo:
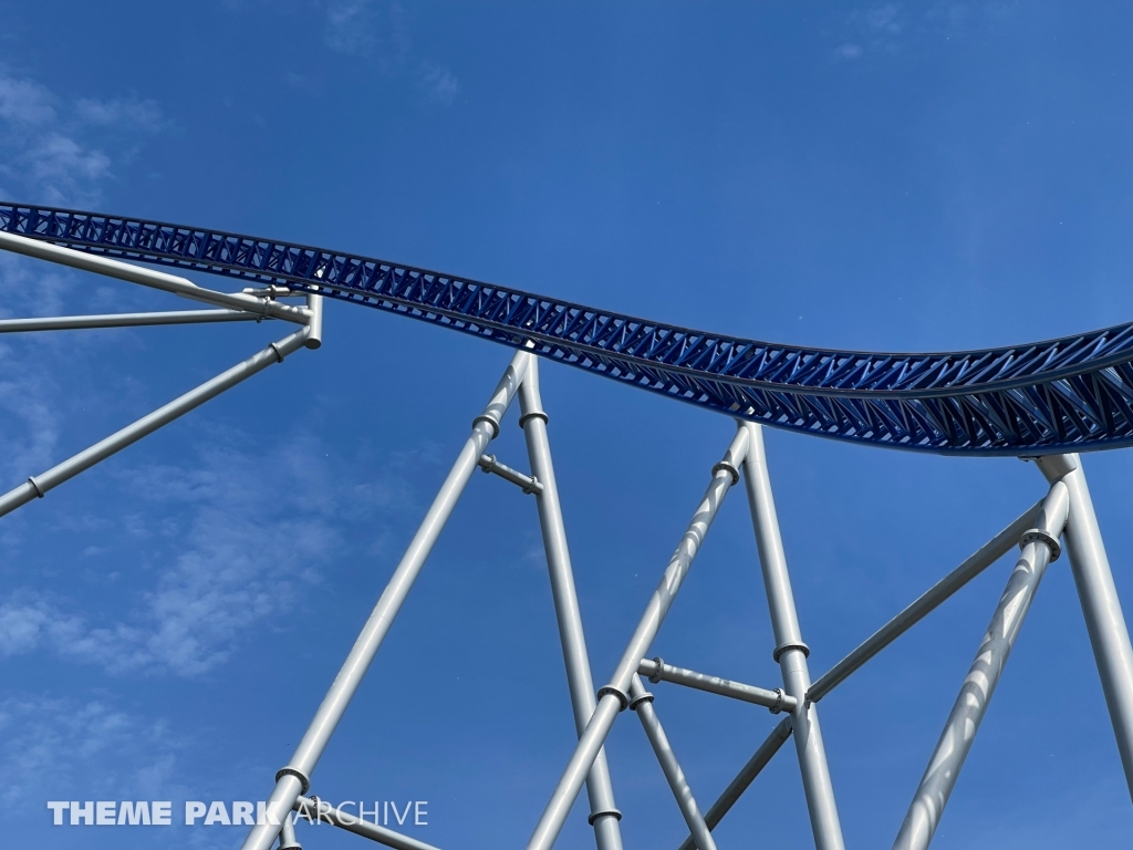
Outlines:
MULTIPOLYGON (((547 439, 547 415, 543 410, 539 394, 539 364, 533 354, 525 355, 527 371, 519 388, 519 424, 527 440, 527 454, 531 464, 531 475, 540 485, 535 491, 539 509, 539 527, 543 530, 543 547, 547 555, 551 573, 551 595, 559 621, 559 638, 566 664, 566 685, 570 688, 571 705, 574 708, 576 733, 581 736, 590 722, 597 700, 594 696, 594 678, 590 656, 586 649, 586 632, 582 629, 582 611, 578 604, 574 587, 574 571, 571 567, 570 549, 566 545, 566 526, 563 522, 559 502, 559 485, 551 459, 551 443, 547 439)), ((614 788, 610 779, 610 765, 605 749, 598 750, 586 781, 590 798, 590 824, 594 826, 598 850, 621 850, 622 835, 617 822, 622 813, 614 804, 614 788)))

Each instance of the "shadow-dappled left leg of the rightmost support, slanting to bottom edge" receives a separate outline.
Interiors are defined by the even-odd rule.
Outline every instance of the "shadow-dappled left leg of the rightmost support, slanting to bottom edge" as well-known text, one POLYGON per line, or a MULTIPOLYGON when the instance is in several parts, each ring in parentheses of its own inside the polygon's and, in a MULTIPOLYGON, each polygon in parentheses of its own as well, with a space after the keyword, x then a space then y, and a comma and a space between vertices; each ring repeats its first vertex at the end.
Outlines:
POLYGON ((976 660, 968 670, 928 770, 925 771, 904 823, 901 824, 897 839, 893 842, 894 850, 926 850, 932 840, 980 722, 991 703, 991 695, 1003 675, 1007 657, 1023 627, 1023 620, 1030 611, 1034 592, 1039 588, 1047 564, 1060 553, 1058 536, 1066 525, 1068 508, 1067 488, 1055 482, 1039 511, 1036 528, 1023 533, 1019 561, 991 617, 991 624, 980 641, 976 660))

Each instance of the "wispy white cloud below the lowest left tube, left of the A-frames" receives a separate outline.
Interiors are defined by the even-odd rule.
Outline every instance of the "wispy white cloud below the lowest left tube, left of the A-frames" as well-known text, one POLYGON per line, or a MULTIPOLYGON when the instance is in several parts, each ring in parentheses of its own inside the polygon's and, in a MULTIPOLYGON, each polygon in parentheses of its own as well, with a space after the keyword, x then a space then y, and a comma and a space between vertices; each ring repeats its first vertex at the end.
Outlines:
POLYGON ((395 478, 343 490, 314 460, 320 448, 298 435, 264 465, 233 444, 210 445, 196 467, 121 473, 146 505, 125 522, 131 549, 165 553, 150 558, 156 580, 110 622, 76 601, 17 589, 0 604, 0 656, 46 649, 111 673, 182 677, 223 663, 246 630, 281 620, 322 580, 343 547, 341 522, 372 519, 400 490, 395 478))

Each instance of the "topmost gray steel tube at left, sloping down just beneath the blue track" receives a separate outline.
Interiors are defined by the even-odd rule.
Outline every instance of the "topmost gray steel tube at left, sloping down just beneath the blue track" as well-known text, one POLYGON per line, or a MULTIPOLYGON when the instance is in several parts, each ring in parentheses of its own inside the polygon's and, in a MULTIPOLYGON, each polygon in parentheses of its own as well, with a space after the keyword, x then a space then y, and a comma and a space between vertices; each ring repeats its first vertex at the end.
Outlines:
POLYGON ((301 307, 291 307, 250 295, 216 292, 212 289, 198 287, 193 281, 186 278, 178 278, 176 274, 167 274, 165 272, 157 272, 152 269, 142 269, 119 260, 101 257, 95 254, 84 254, 74 248, 61 248, 58 245, 51 245, 39 239, 28 239, 26 236, 0 232, 0 249, 35 257, 36 260, 45 260, 49 263, 69 265, 71 269, 79 269, 84 272, 94 272, 95 274, 104 274, 108 278, 118 278, 118 280, 125 280, 130 283, 140 283, 144 287, 163 289, 167 292, 191 298, 195 301, 214 304, 218 307, 242 309, 255 315, 282 318, 288 322, 296 322, 297 324, 307 324, 309 318, 308 312, 301 307))

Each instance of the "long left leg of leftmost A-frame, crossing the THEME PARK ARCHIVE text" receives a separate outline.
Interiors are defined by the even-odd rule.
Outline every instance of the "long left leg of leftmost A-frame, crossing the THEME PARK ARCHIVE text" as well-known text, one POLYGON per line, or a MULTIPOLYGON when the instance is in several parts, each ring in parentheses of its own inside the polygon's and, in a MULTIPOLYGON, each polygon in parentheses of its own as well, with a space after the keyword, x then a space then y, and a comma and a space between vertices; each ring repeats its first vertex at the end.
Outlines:
POLYGON ((393 576, 385 586, 385 590, 382 592, 369 619, 366 620, 366 624, 350 649, 342 669, 318 706, 315 719, 307 728, 303 740, 299 741, 291 760, 275 774, 275 788, 267 799, 267 817, 265 818, 267 823, 257 824, 252 828, 241 844, 242 850, 269 850, 279 833, 279 826, 272 825, 271 821, 279 821, 283 813, 290 811, 299 794, 306 793, 310 787, 312 771, 318 764, 326 743, 346 713, 355 691, 358 690, 370 662, 374 661, 378 647, 393 624, 393 619, 401 610, 402 603, 425 564, 425 559, 428 558, 437 537, 441 536, 444 524, 457 505, 468 479, 477 468, 477 461, 488 442, 499 435, 500 422, 523 380, 526 365, 523 352, 519 352, 512 358, 511 365, 508 366, 503 379, 501 379, 495 392, 492 393, 492 399, 484 408, 484 413, 472 420, 471 436, 468 437, 460 454, 457 456, 457 461, 452 465, 449 476, 433 500, 417 534, 414 535, 409 549, 402 555, 401 562, 393 571, 393 576))

